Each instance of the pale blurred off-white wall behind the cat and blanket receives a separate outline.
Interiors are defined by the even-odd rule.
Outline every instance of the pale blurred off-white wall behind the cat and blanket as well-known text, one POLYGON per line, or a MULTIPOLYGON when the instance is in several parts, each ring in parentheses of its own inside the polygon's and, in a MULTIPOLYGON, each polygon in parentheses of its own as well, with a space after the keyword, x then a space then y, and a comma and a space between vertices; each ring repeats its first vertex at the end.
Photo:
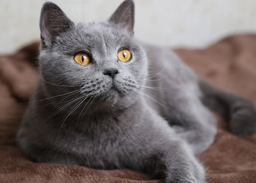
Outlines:
MULTIPOLYGON (((109 17, 122 0, 52 0, 74 22, 109 17)), ((39 40, 45 0, 0 0, 0 54, 39 40)), ((256 32, 255 0, 135 0, 135 35, 172 47, 203 48, 237 33, 256 32)))

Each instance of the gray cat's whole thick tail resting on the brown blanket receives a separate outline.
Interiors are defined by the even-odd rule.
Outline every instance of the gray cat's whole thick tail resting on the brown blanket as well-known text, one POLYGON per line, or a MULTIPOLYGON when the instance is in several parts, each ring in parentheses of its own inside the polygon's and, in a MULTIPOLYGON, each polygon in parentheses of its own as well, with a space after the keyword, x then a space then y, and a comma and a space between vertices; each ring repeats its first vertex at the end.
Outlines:
POLYGON ((221 114, 232 133, 245 137, 256 132, 256 108, 250 100, 218 89, 204 80, 200 80, 199 86, 203 104, 221 114))

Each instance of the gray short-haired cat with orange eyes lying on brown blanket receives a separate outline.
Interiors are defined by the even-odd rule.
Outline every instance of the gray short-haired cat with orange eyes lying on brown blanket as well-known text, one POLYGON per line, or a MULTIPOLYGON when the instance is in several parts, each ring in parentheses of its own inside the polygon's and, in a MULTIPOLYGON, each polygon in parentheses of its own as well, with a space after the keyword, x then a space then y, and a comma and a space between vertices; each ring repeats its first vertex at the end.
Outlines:
POLYGON ((168 183, 204 183, 195 154, 216 134, 256 130, 252 102, 200 79, 165 47, 134 37, 134 2, 107 20, 74 24, 55 4, 40 17, 40 78, 17 134, 36 162, 130 168, 168 183), (208 107, 208 108, 206 108, 208 107))

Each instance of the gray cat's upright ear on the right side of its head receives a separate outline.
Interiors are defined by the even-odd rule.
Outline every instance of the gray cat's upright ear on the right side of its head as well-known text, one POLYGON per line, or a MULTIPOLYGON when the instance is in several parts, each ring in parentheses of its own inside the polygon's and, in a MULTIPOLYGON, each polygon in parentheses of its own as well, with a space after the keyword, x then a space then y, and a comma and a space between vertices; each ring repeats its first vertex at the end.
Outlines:
POLYGON ((110 17, 109 22, 125 28, 133 34, 134 9, 133 0, 125 0, 110 17))

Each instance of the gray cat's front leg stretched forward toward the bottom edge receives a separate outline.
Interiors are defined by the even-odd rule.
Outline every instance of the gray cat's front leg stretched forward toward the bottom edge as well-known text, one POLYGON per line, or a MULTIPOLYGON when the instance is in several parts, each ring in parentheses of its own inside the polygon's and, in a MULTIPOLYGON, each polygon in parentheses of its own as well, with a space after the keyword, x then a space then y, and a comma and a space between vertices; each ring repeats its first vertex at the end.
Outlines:
POLYGON ((194 157, 190 146, 169 128, 162 119, 152 118, 155 125, 140 126, 138 138, 125 146, 123 153, 130 168, 145 171, 153 179, 163 179, 164 183, 205 183, 205 172, 194 157), (128 154, 127 154, 128 153, 128 154), (131 156, 132 154, 132 156, 131 156))

